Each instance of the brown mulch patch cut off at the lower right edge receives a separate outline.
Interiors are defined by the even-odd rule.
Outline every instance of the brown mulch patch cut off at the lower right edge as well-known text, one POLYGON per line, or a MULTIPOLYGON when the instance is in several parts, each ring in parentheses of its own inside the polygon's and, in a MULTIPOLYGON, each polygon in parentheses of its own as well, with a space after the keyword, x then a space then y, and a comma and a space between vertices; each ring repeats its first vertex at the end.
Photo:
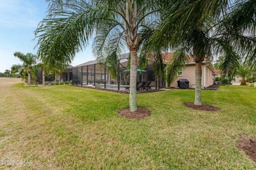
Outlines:
POLYGON ((238 142, 238 150, 242 150, 256 163, 256 138, 249 138, 242 135, 238 142))

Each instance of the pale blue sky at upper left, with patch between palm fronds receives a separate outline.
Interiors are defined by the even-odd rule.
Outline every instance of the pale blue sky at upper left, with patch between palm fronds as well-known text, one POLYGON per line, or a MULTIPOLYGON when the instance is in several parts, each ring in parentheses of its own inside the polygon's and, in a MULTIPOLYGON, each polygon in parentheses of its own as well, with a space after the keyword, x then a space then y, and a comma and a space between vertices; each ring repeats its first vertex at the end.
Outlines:
MULTIPOLYGON (((14 52, 32 52, 37 41, 33 31, 46 16, 48 4, 45 0, 1 0, 0 3, 0 72, 11 69, 13 64, 22 63, 13 56, 14 52)), ((91 43, 77 54, 72 65, 95 59, 91 43)))

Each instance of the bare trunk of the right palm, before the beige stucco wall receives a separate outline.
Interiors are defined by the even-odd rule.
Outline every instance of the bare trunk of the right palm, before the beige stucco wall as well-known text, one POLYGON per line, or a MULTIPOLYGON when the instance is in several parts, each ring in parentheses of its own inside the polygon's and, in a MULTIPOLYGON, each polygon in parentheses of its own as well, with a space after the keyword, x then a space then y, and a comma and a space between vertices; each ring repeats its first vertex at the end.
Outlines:
POLYGON ((195 105, 202 105, 202 63, 196 63, 195 105))

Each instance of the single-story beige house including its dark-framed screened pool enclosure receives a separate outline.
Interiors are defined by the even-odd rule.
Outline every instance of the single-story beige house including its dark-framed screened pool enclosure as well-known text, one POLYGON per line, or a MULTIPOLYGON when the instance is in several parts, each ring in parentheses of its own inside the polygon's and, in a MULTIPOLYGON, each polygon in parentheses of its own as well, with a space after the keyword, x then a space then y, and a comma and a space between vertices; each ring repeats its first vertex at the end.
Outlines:
MULTIPOLYGON (((167 64, 173 53, 165 53, 164 62, 167 64)), ((129 54, 122 54, 118 56, 117 73, 116 76, 110 75, 108 70, 104 68, 104 65, 97 63, 97 61, 88 61, 80 65, 75 66, 72 69, 73 84, 79 86, 102 86, 102 88, 125 88, 129 86, 129 71, 127 68, 129 54), (91 85, 90 85, 91 84, 91 85), (101 84, 101 85, 100 85, 101 84)), ((137 59, 139 63, 139 58, 137 59)), ((171 87, 178 88, 177 81, 179 79, 187 79, 189 81, 189 87, 195 88, 196 84, 196 63, 190 59, 186 66, 179 71, 177 78, 171 84, 171 87)), ((208 61, 202 63, 202 88, 207 88, 214 84, 215 73, 213 65, 208 61)), ((157 77, 154 73, 152 61, 148 61, 148 65, 142 70, 138 71, 137 82, 148 82, 150 86, 154 88, 167 87, 164 77, 157 77)))

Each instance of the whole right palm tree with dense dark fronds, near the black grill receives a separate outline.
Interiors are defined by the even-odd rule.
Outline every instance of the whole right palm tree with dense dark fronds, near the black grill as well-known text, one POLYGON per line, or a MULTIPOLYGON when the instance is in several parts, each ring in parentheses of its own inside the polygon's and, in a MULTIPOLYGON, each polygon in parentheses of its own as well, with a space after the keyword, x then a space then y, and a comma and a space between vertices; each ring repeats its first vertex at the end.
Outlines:
POLYGON ((184 0, 177 1, 165 12, 163 21, 147 42, 149 52, 156 48, 175 50, 173 58, 166 67, 167 83, 171 84, 179 69, 184 67, 188 59, 196 63, 195 105, 202 105, 202 62, 211 62, 213 55, 235 59, 238 65, 237 52, 249 50, 255 44, 250 37, 236 36, 222 29, 219 18, 226 14, 228 0, 184 0), (153 46, 154 44, 154 46, 153 46), (239 45, 240 46, 239 46, 239 45), (148 47, 150 46, 150 47, 148 47))

